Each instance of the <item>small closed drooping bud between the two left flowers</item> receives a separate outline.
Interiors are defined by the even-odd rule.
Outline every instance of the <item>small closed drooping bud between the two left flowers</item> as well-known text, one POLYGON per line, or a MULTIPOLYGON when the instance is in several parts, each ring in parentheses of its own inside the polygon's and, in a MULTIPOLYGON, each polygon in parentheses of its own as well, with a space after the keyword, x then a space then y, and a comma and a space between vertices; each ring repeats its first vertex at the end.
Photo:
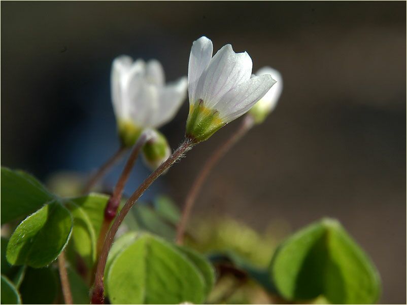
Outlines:
POLYGON ((155 170, 171 156, 171 148, 162 133, 157 130, 151 131, 152 138, 143 146, 143 159, 151 170, 155 170))

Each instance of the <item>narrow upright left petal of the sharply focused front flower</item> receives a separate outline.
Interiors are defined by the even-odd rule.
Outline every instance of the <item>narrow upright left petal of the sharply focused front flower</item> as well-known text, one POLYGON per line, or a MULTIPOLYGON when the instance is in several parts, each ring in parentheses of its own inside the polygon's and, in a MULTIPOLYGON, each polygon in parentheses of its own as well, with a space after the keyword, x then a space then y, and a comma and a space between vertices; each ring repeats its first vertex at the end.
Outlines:
POLYGON ((190 103, 196 101, 196 85, 202 72, 205 71, 211 61, 212 52, 212 41, 205 36, 192 43, 188 64, 188 95, 190 103))

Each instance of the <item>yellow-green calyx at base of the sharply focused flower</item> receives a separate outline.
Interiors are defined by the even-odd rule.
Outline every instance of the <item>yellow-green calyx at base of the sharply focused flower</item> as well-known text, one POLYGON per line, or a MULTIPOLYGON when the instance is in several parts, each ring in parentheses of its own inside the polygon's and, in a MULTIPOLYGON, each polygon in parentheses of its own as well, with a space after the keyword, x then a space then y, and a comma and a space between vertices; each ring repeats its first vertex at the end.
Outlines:
POLYGON ((189 106, 189 115, 186 126, 186 136, 195 143, 209 139, 216 131, 225 126, 217 110, 207 108, 203 101, 198 99, 189 106))

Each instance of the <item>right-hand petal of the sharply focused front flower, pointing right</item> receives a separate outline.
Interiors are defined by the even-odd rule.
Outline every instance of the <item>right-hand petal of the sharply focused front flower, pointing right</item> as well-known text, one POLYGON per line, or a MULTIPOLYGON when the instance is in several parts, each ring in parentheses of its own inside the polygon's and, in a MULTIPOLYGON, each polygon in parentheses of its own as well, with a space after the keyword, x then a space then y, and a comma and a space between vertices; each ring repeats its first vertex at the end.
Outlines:
POLYGON ((222 121, 229 123, 249 111, 275 83, 271 75, 260 75, 227 92, 216 107, 222 121))

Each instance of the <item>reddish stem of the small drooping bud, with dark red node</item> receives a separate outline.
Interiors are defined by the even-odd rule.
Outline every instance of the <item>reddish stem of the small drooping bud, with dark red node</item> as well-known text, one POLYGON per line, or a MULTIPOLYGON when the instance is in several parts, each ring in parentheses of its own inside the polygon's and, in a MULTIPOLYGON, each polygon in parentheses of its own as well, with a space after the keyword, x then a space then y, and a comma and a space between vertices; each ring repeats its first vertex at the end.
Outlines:
POLYGON ((137 157, 139 156, 140 150, 143 145, 151 139, 151 134, 149 131, 143 132, 138 140, 135 142, 131 154, 127 159, 126 165, 123 168, 123 171, 120 175, 119 180, 117 181, 115 188, 113 189, 113 194, 109 198, 109 201, 105 207, 104 220, 100 228, 99 238, 97 239, 96 253, 97 256, 100 253, 103 242, 105 241, 106 234, 109 230, 109 226, 112 220, 116 217, 117 209, 119 208, 121 196, 123 194, 124 186, 128 180, 131 169, 134 166, 137 157))

